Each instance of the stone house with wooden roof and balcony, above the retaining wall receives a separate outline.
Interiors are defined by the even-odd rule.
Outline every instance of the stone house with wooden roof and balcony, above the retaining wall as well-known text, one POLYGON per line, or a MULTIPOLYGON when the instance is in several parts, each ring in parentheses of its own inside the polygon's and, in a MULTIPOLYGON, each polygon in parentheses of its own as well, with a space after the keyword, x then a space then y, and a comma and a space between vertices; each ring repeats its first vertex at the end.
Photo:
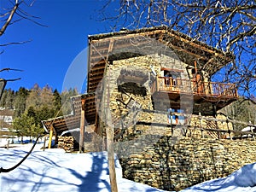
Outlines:
POLYGON ((115 141, 174 131, 181 137, 193 135, 198 131, 188 127, 220 126, 198 116, 216 117, 238 98, 235 84, 211 81, 233 55, 166 26, 92 35, 88 40, 87 93, 72 98, 73 115, 43 121, 55 137, 80 127, 83 146, 84 127, 104 138, 106 126, 113 127, 115 141))

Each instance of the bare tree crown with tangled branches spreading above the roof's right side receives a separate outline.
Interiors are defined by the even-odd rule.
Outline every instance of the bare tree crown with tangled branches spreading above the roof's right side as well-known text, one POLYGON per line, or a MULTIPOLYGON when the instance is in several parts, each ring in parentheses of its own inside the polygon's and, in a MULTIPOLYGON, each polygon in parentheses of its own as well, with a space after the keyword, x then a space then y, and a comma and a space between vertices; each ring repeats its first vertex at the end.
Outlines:
POLYGON ((114 3, 117 2, 109 0, 100 11, 100 19, 111 21, 113 30, 166 25, 224 53, 233 53, 234 61, 219 72, 222 80, 236 83, 248 98, 255 96, 254 0, 120 0, 118 6, 114 3))

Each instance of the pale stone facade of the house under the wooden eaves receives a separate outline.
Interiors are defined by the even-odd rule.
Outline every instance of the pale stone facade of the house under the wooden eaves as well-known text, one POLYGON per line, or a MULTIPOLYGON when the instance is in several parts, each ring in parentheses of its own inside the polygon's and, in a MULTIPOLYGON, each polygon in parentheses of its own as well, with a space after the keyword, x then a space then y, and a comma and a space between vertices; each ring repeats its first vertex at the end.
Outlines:
MULTIPOLYGON (((151 67, 154 67, 154 70, 157 74, 161 73, 160 69, 162 67, 183 69, 182 79, 189 79, 189 74, 185 70, 186 64, 166 55, 138 56, 109 63, 106 76, 102 80, 102 102, 101 104, 97 103, 97 105, 100 105, 97 107, 99 108, 100 119, 104 121, 104 124, 100 126, 99 130, 99 133, 101 135, 105 134, 104 127, 106 124, 119 126, 116 128, 121 129, 121 126, 119 125, 121 117, 126 115, 127 113, 131 113, 131 108, 127 108, 127 103, 130 101, 131 98, 136 102, 140 103, 141 108, 143 109, 155 109, 162 110, 162 112, 167 112, 167 108, 170 108, 172 106, 172 104, 170 103, 170 98, 167 94, 161 100, 157 100, 158 104, 155 103, 156 100, 154 100, 150 90, 150 77, 152 76, 151 67), (142 79, 136 79, 137 77, 132 76, 132 74, 123 74, 124 71, 134 74, 143 74, 145 79, 143 79, 143 77, 142 79), (137 81, 141 82, 137 83, 137 81), (125 91, 120 90, 120 88, 125 91), (108 102, 111 118, 107 118, 105 116, 106 110, 108 108, 108 102)), ((181 106, 182 105, 183 103, 181 102, 181 106)), ((126 116, 125 123, 129 123, 129 118, 130 121, 143 121, 147 123, 161 123, 166 125, 168 124, 167 115, 163 113, 138 113, 134 116, 131 113, 130 115, 126 116)), ((172 123, 175 123, 174 121, 175 120, 172 120, 172 123)), ((194 118, 190 121, 191 123, 189 124, 191 126, 201 126, 199 119, 194 118)), ((201 124, 206 127, 206 122, 204 120, 201 121, 201 124)), ((127 128, 127 126, 125 128, 127 128)), ((227 126, 225 124, 218 125, 218 127, 217 125, 215 125, 212 128, 227 129, 227 126)), ((132 127, 132 129, 134 128, 132 127)), ((231 129, 231 126, 229 127, 229 129, 231 129)), ((193 130, 193 132, 189 132, 189 135, 201 136, 201 131, 193 130)), ((217 134, 210 134, 207 132, 205 135, 206 137, 218 137, 217 134)))

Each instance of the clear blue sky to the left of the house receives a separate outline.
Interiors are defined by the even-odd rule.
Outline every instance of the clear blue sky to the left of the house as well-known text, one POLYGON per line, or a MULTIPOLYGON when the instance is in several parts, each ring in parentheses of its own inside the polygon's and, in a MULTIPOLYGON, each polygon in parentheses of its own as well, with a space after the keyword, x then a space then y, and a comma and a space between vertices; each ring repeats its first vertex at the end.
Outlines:
MULTIPOLYGON (((32 2, 32 1, 31 1, 32 2)), ((1 78, 15 79, 6 88, 18 90, 20 86, 28 89, 38 83, 40 87, 49 84, 53 89, 62 90, 68 68, 67 89, 70 86, 81 88, 81 76, 86 73, 86 47, 89 34, 110 32, 107 23, 97 21, 98 9, 106 1, 99 0, 36 0, 32 7, 24 7, 26 12, 40 17, 37 20, 48 27, 38 26, 30 21, 21 20, 9 26, 0 38, 0 44, 32 40, 26 44, 0 47, 0 68, 10 67, 24 72, 2 72, 1 78), (78 56, 79 55, 79 56, 78 56), (80 78, 78 78, 80 76, 80 78), (73 82, 73 78, 76 79, 73 82)), ((8 0, 0 0, 1 9, 9 7, 8 0)), ((2 10, 1 10, 2 11, 2 10)), ((66 78, 67 79, 67 78, 66 78)))

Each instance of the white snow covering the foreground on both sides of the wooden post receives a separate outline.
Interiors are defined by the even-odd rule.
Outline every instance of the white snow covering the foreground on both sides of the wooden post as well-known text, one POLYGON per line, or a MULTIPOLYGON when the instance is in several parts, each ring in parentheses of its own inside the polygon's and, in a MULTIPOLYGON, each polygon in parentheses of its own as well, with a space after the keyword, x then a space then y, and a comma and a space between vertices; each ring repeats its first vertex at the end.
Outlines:
MULTIPOLYGON (((30 149, 31 144, 16 148, 0 148, 0 166, 14 166, 30 149)), ((67 154, 61 149, 40 150, 38 145, 21 166, 9 173, 0 174, 0 191, 110 191, 108 157, 106 152, 89 154, 67 154), (54 153, 53 153, 54 152, 54 153)), ((122 178, 119 160, 116 162, 119 192, 163 191, 148 185, 122 178)), ((183 192, 256 191, 256 163, 242 167, 229 177, 200 183, 183 192)))

